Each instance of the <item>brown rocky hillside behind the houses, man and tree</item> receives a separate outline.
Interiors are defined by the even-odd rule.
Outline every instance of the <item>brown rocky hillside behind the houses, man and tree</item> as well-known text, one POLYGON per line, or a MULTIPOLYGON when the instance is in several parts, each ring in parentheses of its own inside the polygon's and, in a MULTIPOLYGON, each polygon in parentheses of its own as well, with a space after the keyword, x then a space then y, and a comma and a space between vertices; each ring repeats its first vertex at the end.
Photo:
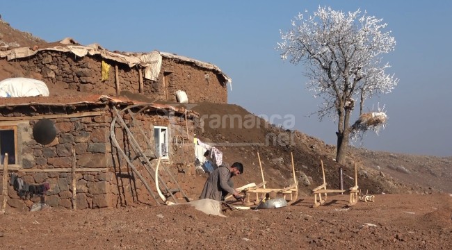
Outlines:
MULTIPOLYGON (((40 47, 45 44, 45 40, 36 38, 31 33, 18 31, 0 20, 0 49, 40 47)), ((33 77, 33 72, 15 68, 4 59, 0 60, 0 69, 0 80, 14 76, 33 77)), ((57 90, 50 91, 55 94, 57 90)), ((145 99, 141 99, 143 98, 145 99)), ((321 183, 321 160, 329 187, 339 188, 339 165, 333 160, 335 147, 305 135, 302 131, 286 131, 267 124, 234 104, 196 103, 193 106, 193 110, 200 113, 203 121, 198 128, 197 137, 204 142, 215 143, 223 151, 226 163, 241 161, 245 164, 245 173, 237 178, 237 186, 261 182, 258 153, 267 187, 282 188, 290 185, 293 182, 293 153, 302 194, 309 194, 312 188, 321 183), (210 122, 218 116, 231 119, 226 118, 226 122, 220 126, 212 126, 210 122)), ((355 163, 359 169, 358 185, 372 194, 452 192, 452 158, 352 148, 344 166, 344 188, 354 185, 355 163)), ((201 179, 200 187, 202 184, 201 179)))

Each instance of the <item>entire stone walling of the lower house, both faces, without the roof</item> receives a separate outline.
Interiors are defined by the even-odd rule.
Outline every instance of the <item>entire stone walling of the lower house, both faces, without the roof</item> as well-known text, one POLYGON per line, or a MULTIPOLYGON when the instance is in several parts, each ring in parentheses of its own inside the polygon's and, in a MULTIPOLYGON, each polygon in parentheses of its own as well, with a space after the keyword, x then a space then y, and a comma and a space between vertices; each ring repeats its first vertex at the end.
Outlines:
MULTIPOLYGON (((11 112, 19 113, 20 110, 11 112)), ((22 113, 26 112, 27 110, 22 110, 22 113)), ((104 109, 104 114, 97 116, 49 119, 54 122, 57 135, 55 140, 47 145, 42 145, 33 139, 33 126, 38 120, 7 122, 9 126, 12 124, 17 126, 17 165, 10 166, 10 169, 18 169, 17 176, 31 185, 49 183, 50 190, 45 195, 45 201, 49 206, 72 207, 71 173, 48 171, 49 169, 59 169, 58 171, 70 169, 73 160, 72 149, 75 150, 76 168, 95 170, 76 172, 76 207, 78 209, 155 203, 138 176, 113 147, 110 138, 112 114, 108 108, 104 109)), ((128 115, 124 115, 124 121, 127 124, 133 123, 128 115)), ((168 126, 170 157, 162 161, 161 167, 166 167, 170 174, 164 168, 159 173, 168 188, 177 188, 174 180, 186 180, 187 176, 193 174, 191 170, 180 172, 179 167, 186 170, 190 168, 189 166, 193 167, 194 148, 193 143, 188 143, 186 140, 184 144, 179 143, 177 147, 173 147, 175 145, 170 138, 175 135, 186 137, 186 125, 189 133, 193 133, 193 122, 190 119, 185 122, 184 117, 177 117, 177 115, 168 119, 165 113, 137 115, 135 122, 136 126, 131 126, 131 133, 134 134, 134 138, 145 154, 150 156, 153 167, 156 167, 155 149, 152 147, 153 126, 168 126), (138 128, 143 128, 145 135, 138 128)), ((0 126, 5 126, 5 123, 0 122, 0 126)), ((131 138, 124 136, 125 131, 118 126, 118 123, 116 124, 115 134, 120 147, 129 158, 135 159, 133 164, 156 194, 153 176, 147 173, 140 159, 136 157, 130 144, 131 138)), ((186 186, 185 184, 184 187, 186 186)), ((42 199, 39 196, 19 197, 13 185, 8 186, 8 195, 8 206, 23 211, 29 210, 33 203, 42 199)))

